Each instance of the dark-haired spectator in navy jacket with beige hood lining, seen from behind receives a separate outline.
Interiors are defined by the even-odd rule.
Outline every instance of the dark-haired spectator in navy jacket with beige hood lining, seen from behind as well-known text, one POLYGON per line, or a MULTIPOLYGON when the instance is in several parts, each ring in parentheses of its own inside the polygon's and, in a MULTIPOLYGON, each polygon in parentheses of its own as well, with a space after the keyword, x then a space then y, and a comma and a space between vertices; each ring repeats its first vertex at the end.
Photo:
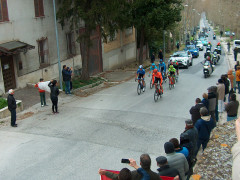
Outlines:
POLYGON ((214 121, 213 118, 208 115, 208 110, 205 107, 200 109, 200 114, 201 119, 199 119, 195 124, 195 127, 198 130, 197 151, 199 151, 201 145, 204 151, 204 149, 207 147, 211 131, 214 128, 214 121))

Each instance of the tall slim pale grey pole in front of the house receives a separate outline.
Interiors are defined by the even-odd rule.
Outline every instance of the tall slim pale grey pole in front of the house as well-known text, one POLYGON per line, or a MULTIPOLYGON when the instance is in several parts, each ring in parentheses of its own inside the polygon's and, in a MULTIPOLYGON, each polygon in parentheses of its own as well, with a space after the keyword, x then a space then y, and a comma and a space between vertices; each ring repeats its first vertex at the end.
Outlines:
POLYGON ((57 17, 56 17, 55 0, 53 0, 53 11, 54 11, 54 24, 55 24, 56 42, 57 42, 59 82, 60 82, 60 88, 63 89, 63 87, 62 87, 62 73, 61 73, 61 61, 60 61, 60 53, 59 53, 59 42, 58 42, 58 29, 57 29, 57 17))

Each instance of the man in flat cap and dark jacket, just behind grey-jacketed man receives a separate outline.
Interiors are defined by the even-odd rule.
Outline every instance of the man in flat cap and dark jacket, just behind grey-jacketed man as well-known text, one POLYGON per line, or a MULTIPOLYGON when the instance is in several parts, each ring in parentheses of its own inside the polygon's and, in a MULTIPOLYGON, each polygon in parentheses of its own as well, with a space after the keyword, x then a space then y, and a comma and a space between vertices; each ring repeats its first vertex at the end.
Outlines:
POLYGON ((196 158, 194 154, 193 143, 190 141, 189 135, 187 133, 180 134, 180 145, 188 149, 189 155, 187 157, 189 171, 187 173, 187 179, 193 174, 193 166, 196 163, 196 158))

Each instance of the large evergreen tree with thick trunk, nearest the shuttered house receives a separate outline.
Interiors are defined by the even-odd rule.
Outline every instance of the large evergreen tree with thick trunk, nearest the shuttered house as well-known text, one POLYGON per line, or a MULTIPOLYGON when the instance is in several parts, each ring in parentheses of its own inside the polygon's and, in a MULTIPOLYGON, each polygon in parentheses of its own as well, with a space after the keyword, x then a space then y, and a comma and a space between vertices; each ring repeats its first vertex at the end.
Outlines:
POLYGON ((101 35, 106 39, 115 31, 130 26, 128 5, 126 0, 58 0, 57 17, 62 27, 65 24, 79 28, 80 20, 84 21, 85 31, 78 36, 81 43, 82 76, 89 79, 88 62, 91 48, 91 33, 100 28, 101 35))

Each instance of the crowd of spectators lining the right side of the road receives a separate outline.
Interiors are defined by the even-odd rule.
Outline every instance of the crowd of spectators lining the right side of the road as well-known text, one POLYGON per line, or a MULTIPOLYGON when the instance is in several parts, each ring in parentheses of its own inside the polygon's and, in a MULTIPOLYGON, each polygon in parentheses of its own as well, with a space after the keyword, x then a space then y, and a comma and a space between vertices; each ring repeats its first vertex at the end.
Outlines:
MULTIPOLYGON (((240 67, 238 69, 240 74, 240 67)), ((171 138, 164 144, 165 156, 156 158, 159 167, 157 172, 151 170, 150 156, 143 154, 140 157, 141 167, 134 159, 129 159, 129 165, 136 169, 134 171, 123 168, 119 174, 115 174, 100 169, 99 174, 116 180, 158 180, 161 177, 172 177, 175 180, 190 179, 197 154, 200 149, 203 152, 207 147, 211 131, 216 127, 219 117, 226 111, 227 121, 237 119, 239 106, 235 94, 237 74, 238 72, 230 70, 228 74, 221 75, 216 85, 209 87, 207 93, 203 93, 202 100, 196 98, 195 105, 189 110, 191 119, 185 121, 185 130, 180 134, 179 140, 171 138)))

